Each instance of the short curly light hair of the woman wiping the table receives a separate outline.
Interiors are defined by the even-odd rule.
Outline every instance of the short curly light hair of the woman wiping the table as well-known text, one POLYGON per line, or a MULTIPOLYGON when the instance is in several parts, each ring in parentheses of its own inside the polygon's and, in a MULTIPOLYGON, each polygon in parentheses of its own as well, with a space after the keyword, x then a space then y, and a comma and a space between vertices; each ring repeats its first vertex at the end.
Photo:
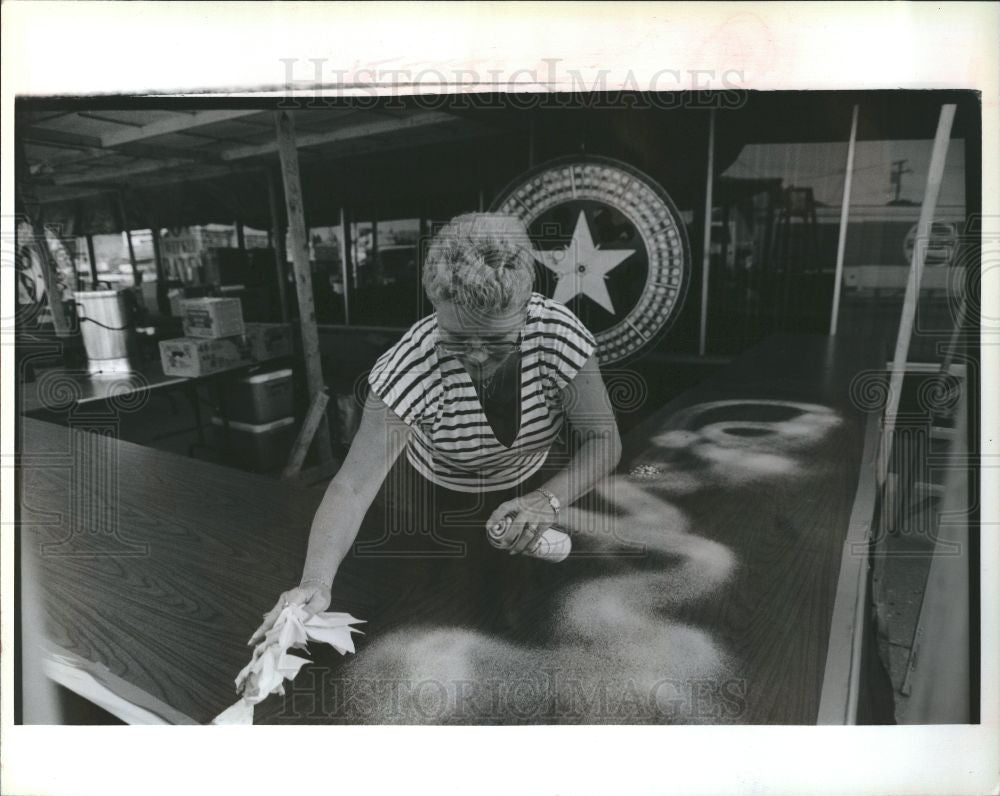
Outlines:
POLYGON ((516 216, 456 216, 431 242, 424 290, 433 304, 451 301, 485 312, 518 309, 535 281, 532 249, 528 230, 516 216))

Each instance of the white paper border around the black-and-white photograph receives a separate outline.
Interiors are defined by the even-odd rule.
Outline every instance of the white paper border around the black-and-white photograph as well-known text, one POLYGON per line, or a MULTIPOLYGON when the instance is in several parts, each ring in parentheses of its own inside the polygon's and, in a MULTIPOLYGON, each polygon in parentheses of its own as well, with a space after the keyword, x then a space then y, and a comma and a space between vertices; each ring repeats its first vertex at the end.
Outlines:
MULTIPOLYGON (((282 59, 371 91, 406 70, 486 77, 490 90, 590 84, 664 89, 972 88, 983 96, 984 237, 1000 240, 997 41, 1000 10, 977 3, 72 3, 7 2, 2 14, 0 218, 13 217, 15 95, 283 93, 282 59), (548 59, 548 60, 547 60, 548 59), (556 59, 554 79, 545 71, 556 59), (490 70, 496 79, 489 78, 490 70), (700 75, 692 78, 691 75, 700 75), (730 76, 731 71, 730 71, 730 76), (341 79, 345 79, 342 77, 341 79), (683 81, 697 80, 694 85, 683 81), (643 82, 645 81, 645 82, 643 82), (734 81, 735 82, 735 81, 734 81), (499 83, 500 85, 496 85, 499 83), (990 237, 991 236, 991 237, 990 237)), ((450 90, 466 90, 452 86, 450 90)), ((399 90, 389 88, 384 90, 399 90)), ((312 89, 303 89, 309 93, 312 89)), ((1000 296, 984 249, 983 296, 1000 296)), ((15 291, 0 269, 4 318, 15 291)), ((1000 312, 983 323, 983 453, 996 454, 1000 312), (987 337, 986 335, 990 335, 987 337), (990 345, 992 341, 992 345, 990 345)), ((6 321, 5 321, 6 323, 6 321)), ((7 334, 5 329, 5 334, 7 334)), ((7 339, 4 342, 8 342, 7 339)), ((13 358, 2 357, 2 649, 13 649, 13 358)), ((500 793, 997 792, 1000 489, 982 494, 982 701, 978 727, 22 727, 12 726, 11 654, 2 656, 5 793, 275 792, 304 787, 500 793)))

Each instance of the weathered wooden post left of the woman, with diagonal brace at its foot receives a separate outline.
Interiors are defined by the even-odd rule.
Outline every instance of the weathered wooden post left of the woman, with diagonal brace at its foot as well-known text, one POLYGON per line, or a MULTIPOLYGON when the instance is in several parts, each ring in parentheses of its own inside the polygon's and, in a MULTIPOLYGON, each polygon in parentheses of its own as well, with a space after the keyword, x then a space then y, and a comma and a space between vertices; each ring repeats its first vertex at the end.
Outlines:
MULTIPOLYGON (((325 389, 323 364, 319 353, 319 333, 316 330, 316 305, 313 302, 312 272, 309 267, 309 241, 306 239, 305 213, 302 207, 302 183, 299 178, 299 155, 295 148, 295 124, 291 111, 274 112, 281 158, 281 176, 285 186, 285 209, 291 237, 292 264, 295 268, 295 291, 299 299, 299 327, 302 332, 302 353, 306 366, 309 394, 318 395, 325 389)), ((321 464, 332 458, 330 428, 326 414, 316 431, 316 445, 321 464)))

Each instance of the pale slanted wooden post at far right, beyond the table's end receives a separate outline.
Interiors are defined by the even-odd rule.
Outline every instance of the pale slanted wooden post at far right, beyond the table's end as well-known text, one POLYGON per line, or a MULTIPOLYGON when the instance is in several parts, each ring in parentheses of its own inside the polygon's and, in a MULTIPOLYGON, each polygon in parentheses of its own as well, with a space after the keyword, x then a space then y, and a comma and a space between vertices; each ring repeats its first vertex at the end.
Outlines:
POLYGON ((881 487, 889 472, 889 456, 892 449, 892 435, 896 428, 896 413, 899 411, 899 400, 903 389, 903 376, 906 373, 906 359, 910 351, 910 337, 913 335, 913 320, 917 312, 917 299, 920 297, 920 279, 924 273, 924 262, 927 259, 928 240, 931 232, 931 222, 937 209, 938 192, 944 177, 944 161, 948 154, 948 140, 951 137, 951 125, 955 119, 955 105, 942 105, 938 116, 937 133, 934 135, 934 148, 931 150, 931 164, 927 169, 927 187, 924 189, 924 201, 920 206, 920 220, 917 222, 917 232, 913 238, 913 255, 910 258, 910 278, 906 283, 906 295, 903 297, 903 311, 899 319, 899 331, 896 335, 896 351, 892 357, 892 373, 889 378, 889 395, 886 399, 885 424, 882 429, 883 444, 877 470, 878 484, 881 487))

